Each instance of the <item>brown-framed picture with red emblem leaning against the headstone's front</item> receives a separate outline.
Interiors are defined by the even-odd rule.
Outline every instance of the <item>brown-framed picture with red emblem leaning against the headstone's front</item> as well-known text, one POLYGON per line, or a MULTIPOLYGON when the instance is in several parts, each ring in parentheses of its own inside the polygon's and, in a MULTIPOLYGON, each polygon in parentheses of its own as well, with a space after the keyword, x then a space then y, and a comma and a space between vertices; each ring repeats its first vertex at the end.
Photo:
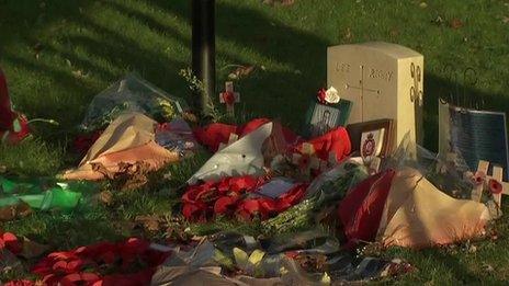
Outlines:
POLYGON ((393 119, 380 119, 347 126, 352 142, 352 155, 365 161, 387 157, 393 148, 393 119))

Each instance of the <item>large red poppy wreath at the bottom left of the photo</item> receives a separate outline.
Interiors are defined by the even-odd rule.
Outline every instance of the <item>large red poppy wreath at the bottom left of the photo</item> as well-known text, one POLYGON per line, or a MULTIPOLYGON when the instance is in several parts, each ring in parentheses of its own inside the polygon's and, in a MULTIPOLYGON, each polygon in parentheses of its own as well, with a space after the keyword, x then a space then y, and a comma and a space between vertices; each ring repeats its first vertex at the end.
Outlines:
POLYGON ((42 277, 41 282, 18 281, 8 285, 149 285, 156 267, 168 255, 136 238, 118 243, 100 242, 53 252, 32 268, 42 277))

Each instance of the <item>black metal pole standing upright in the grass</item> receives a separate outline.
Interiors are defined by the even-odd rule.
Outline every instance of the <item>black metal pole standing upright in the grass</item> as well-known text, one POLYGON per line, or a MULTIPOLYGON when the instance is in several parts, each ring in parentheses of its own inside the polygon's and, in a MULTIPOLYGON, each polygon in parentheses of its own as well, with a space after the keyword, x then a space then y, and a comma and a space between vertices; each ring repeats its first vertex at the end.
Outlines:
POLYGON ((205 89, 195 106, 206 115, 216 82, 215 0, 192 0, 192 13, 193 72, 205 89))

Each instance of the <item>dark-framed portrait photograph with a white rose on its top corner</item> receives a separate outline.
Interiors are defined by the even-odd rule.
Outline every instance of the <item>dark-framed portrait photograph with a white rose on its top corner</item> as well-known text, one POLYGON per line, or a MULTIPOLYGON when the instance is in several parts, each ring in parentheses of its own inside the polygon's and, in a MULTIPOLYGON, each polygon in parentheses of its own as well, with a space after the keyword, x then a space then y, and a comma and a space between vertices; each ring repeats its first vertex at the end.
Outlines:
POLYGON ((313 101, 306 114, 304 135, 314 138, 338 126, 344 126, 350 115, 352 102, 340 100, 335 104, 313 101))

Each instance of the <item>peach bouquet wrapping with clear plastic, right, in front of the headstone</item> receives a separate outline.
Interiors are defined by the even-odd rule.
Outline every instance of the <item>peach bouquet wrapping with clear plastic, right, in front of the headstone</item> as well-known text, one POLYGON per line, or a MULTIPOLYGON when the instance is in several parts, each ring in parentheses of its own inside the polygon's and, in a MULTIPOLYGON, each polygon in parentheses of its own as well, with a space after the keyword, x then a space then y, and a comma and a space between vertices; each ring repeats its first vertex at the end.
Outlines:
POLYGON ((395 172, 376 237, 385 247, 427 248, 484 234, 491 216, 484 204, 470 199, 472 187, 460 169, 408 138, 384 168, 395 172))

